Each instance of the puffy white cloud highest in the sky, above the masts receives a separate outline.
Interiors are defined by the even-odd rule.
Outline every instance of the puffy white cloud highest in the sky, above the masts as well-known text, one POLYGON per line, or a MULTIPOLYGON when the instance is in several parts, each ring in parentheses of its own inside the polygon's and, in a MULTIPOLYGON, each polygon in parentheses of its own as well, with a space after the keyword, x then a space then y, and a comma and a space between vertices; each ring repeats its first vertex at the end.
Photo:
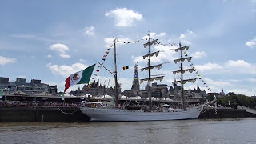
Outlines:
POLYGON ((133 10, 128 10, 126 8, 110 10, 105 14, 105 16, 113 17, 115 26, 133 26, 134 20, 142 20, 142 14, 136 13, 133 10))

